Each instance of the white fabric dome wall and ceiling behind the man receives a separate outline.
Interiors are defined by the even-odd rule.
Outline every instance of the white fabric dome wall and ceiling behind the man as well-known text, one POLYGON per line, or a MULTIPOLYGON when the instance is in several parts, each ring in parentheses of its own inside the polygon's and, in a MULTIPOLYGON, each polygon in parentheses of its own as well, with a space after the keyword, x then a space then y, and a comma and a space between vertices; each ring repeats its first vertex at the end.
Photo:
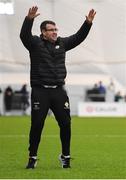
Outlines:
POLYGON ((0 72, 29 73, 28 51, 19 33, 28 9, 37 5, 41 13, 33 34, 40 34, 45 19, 56 21, 59 35, 75 33, 91 8, 97 11, 91 31, 80 46, 67 53, 70 73, 109 74, 126 86, 125 0, 13 0, 14 15, 0 15, 0 72))

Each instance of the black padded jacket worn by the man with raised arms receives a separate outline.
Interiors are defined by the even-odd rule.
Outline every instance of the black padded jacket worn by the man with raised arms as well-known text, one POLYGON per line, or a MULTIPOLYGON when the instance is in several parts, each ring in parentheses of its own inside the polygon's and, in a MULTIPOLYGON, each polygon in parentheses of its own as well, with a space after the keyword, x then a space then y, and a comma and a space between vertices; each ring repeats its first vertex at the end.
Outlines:
POLYGON ((28 49, 31 60, 31 86, 63 85, 66 78, 66 51, 78 46, 88 35, 92 24, 84 22, 79 31, 69 37, 58 37, 51 43, 41 36, 32 35, 34 19, 25 18, 20 38, 28 49))

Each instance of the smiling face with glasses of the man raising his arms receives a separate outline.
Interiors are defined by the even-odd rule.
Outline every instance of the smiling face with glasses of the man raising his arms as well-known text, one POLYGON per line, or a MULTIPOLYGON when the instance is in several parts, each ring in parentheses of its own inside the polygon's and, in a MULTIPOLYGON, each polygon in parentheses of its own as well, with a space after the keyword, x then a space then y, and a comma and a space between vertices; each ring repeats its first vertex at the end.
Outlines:
POLYGON ((55 25, 47 24, 46 30, 42 30, 43 37, 48 41, 55 42, 57 40, 57 31, 58 29, 55 25))

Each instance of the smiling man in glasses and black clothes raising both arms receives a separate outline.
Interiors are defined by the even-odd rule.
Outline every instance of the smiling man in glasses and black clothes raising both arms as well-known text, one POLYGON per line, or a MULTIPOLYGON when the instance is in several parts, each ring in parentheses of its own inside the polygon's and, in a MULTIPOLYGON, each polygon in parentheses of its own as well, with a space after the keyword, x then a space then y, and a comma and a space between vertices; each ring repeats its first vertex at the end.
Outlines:
POLYGON ((30 54, 31 70, 31 129, 29 134, 29 160, 27 169, 35 168, 37 151, 44 122, 51 109, 60 128, 62 168, 70 168, 71 116, 67 92, 65 55, 87 37, 96 12, 92 9, 80 29, 69 37, 59 37, 55 22, 47 20, 40 25, 40 36, 32 35, 34 19, 39 16, 38 7, 29 9, 20 38, 30 54))

